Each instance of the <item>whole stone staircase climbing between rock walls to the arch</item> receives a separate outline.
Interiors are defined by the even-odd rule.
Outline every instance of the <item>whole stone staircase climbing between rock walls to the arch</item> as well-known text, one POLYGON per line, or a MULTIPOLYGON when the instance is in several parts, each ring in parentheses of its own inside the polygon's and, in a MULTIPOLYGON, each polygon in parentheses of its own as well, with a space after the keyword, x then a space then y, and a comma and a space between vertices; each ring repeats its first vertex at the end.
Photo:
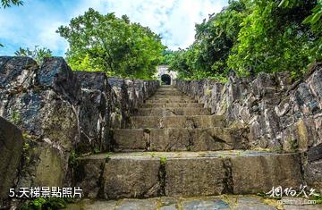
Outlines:
POLYGON ((243 130, 225 127, 172 86, 114 130, 114 152, 80 158, 76 185, 85 197, 199 197, 299 188, 301 156, 248 150, 243 130))

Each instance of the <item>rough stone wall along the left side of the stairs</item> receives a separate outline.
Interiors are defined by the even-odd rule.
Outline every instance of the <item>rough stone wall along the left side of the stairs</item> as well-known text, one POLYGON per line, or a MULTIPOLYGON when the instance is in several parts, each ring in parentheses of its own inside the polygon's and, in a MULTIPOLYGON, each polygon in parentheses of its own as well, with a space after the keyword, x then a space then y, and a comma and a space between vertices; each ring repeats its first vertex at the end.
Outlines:
POLYGON ((24 139, 16 187, 63 186, 70 155, 108 151, 111 130, 123 128, 158 85, 72 71, 61 57, 41 66, 28 57, 0 57, 0 116, 24 139))

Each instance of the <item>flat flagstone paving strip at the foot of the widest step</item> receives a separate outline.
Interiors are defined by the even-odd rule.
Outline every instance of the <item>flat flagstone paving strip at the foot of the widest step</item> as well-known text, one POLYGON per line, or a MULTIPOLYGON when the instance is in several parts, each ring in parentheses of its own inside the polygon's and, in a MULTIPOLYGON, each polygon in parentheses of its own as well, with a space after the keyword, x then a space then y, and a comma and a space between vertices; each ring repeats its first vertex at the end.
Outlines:
MULTIPOLYGON (((322 205, 307 205, 284 210, 320 210, 322 205), (305 208, 304 208, 305 207, 305 208)), ((222 195, 214 197, 152 197, 118 200, 83 199, 67 205, 70 210, 276 210, 282 209, 278 200, 255 195, 222 195), (267 202, 269 201, 269 202, 267 202)))

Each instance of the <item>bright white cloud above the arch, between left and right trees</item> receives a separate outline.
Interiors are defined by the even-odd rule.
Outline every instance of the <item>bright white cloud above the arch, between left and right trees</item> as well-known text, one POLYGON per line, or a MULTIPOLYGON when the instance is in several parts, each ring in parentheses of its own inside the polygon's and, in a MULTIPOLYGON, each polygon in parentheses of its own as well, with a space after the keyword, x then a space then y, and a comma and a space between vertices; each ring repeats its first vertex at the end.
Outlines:
POLYGON ((79 14, 89 7, 101 13, 127 14, 131 21, 140 22, 161 34, 171 49, 185 48, 193 43, 195 23, 218 13, 227 0, 104 0, 84 1, 79 14))

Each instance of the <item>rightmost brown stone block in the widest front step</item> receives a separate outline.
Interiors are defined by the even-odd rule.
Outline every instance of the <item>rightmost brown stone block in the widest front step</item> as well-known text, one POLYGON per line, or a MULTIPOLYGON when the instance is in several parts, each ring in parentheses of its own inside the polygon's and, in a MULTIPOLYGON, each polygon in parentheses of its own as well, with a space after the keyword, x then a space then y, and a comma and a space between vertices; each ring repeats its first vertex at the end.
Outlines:
POLYGON ((231 158, 233 193, 268 192, 273 187, 298 189, 303 184, 300 155, 231 158))

